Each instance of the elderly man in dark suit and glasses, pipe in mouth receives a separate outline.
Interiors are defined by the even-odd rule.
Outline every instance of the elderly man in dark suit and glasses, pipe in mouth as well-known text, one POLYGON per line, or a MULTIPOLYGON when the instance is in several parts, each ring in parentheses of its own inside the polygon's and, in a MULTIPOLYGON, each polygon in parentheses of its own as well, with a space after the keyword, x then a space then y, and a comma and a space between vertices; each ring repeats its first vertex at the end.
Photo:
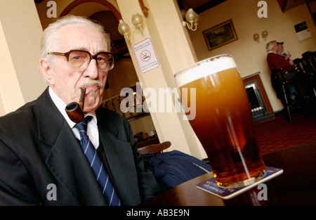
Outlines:
POLYGON ((86 18, 66 16, 44 31, 48 89, 0 118, 0 205, 138 205, 159 193, 130 124, 100 107, 109 51, 103 27, 86 18), (85 119, 76 124, 65 106, 82 89, 85 119))

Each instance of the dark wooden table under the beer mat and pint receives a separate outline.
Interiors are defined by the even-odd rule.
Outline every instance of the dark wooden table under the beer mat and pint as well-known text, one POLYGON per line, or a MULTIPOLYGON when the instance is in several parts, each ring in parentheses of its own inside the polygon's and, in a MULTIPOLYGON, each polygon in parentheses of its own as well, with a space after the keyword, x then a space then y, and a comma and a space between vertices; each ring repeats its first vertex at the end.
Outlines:
POLYGON ((205 174, 147 200, 141 206, 235 206, 235 205, 316 205, 316 141, 263 155, 265 165, 284 170, 266 181, 268 200, 258 200, 256 187, 223 200, 196 187, 212 177, 205 174))

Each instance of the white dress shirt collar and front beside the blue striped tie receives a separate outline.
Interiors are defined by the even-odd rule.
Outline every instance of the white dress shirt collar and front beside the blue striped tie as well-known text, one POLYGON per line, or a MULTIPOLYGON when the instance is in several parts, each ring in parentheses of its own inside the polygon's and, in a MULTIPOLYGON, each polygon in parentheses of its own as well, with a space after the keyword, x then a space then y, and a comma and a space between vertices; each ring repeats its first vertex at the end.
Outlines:
MULTIPOLYGON (((80 140, 80 134, 79 131, 77 129, 77 127, 75 127, 74 122, 72 122, 72 120, 68 117, 66 111, 65 111, 65 107, 66 104, 62 101, 61 98, 59 98, 56 93, 53 91, 53 89, 51 89, 51 87, 49 87, 48 89, 49 95, 51 96, 51 99, 53 100, 53 103, 55 103, 56 107, 58 108, 58 110, 60 111, 60 113, 62 114, 63 117, 65 117, 66 122, 69 124, 70 128, 72 129, 72 132, 74 132, 74 136, 80 140)), ((91 122, 88 123, 88 129, 87 129, 87 134, 89 136, 90 141, 93 143, 95 148, 98 148, 99 145, 99 131, 98 131, 98 125, 97 125, 97 119, 96 119, 96 112, 93 113, 87 113, 85 115, 88 116, 91 115, 92 119, 91 122)))

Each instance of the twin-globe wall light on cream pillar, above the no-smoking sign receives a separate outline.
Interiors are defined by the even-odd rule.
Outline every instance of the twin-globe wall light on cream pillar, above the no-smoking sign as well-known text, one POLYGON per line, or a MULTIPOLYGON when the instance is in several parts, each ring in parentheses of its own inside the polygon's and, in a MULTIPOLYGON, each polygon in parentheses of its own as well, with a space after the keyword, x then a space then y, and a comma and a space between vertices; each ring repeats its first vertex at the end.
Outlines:
MULTIPOLYGON (((143 33, 143 16, 140 15, 139 13, 133 13, 132 15, 132 19, 131 19, 133 25, 135 25, 135 30, 132 32, 132 34, 134 33, 143 33)), ((129 25, 126 24, 126 22, 124 22, 123 20, 119 20, 119 27, 118 27, 119 33, 124 35, 124 37, 126 37, 127 39, 129 39, 129 41, 133 41, 133 36, 132 38, 129 37, 129 32, 130 32, 130 28, 129 25)))

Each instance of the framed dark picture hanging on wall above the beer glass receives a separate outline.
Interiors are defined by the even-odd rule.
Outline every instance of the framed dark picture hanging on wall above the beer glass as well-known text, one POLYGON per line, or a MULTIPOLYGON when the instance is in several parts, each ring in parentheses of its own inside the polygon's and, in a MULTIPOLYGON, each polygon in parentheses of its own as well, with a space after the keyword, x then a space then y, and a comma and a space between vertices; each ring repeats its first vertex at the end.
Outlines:
POLYGON ((232 20, 204 30, 203 36, 209 51, 238 39, 232 20))

